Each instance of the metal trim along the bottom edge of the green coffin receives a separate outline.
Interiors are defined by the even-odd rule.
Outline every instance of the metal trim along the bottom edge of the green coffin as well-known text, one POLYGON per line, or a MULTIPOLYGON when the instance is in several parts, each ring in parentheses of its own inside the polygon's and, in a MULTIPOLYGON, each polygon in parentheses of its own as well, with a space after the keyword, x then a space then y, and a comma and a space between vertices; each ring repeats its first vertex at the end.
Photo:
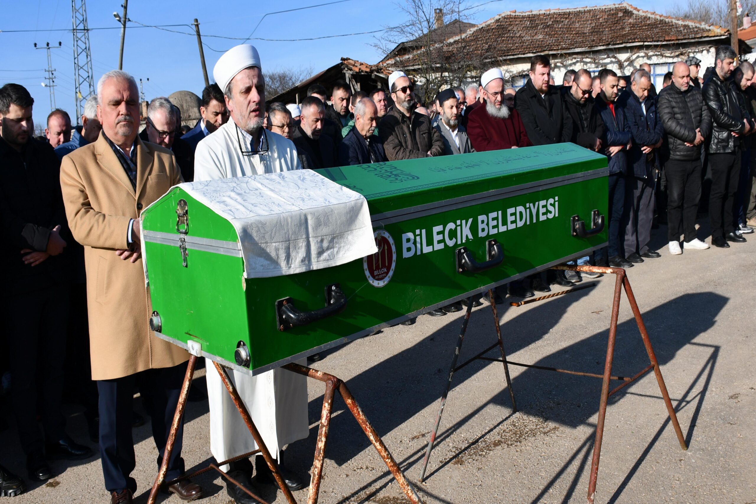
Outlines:
MULTIPOLYGON (((272 369, 278 369, 280 366, 284 366, 289 363, 296 362, 297 360, 304 359, 308 355, 311 354, 317 354, 321 351, 329 350, 330 348, 337 347, 339 345, 344 345, 345 343, 353 342, 355 339, 364 338, 365 336, 373 334, 373 332, 376 332, 380 329, 386 329, 387 327, 395 326, 398 323, 404 322, 404 320, 409 320, 413 317, 420 317, 420 315, 426 314, 431 310, 435 310, 436 308, 441 308, 442 306, 449 305, 451 303, 454 303, 456 301, 461 301, 463 299, 469 298, 471 295, 475 295, 478 293, 482 293, 487 291, 488 289, 493 289, 494 287, 503 285, 505 283, 510 283, 515 280, 519 280, 521 278, 527 277, 528 275, 534 274, 537 271, 543 271, 549 267, 556 266, 556 264, 562 264, 566 261, 572 261, 575 258, 581 258, 585 255, 590 254, 590 252, 593 252, 594 250, 601 249, 607 245, 607 242, 602 243, 601 245, 597 245, 594 247, 591 247, 590 249, 585 249, 581 252, 577 252, 572 255, 565 256, 561 259, 557 259, 556 261, 551 261, 550 263, 545 264, 544 266, 534 267, 531 270, 524 271, 523 273, 519 273, 516 275, 513 275, 512 277, 507 277, 504 280, 499 280, 498 282, 490 283, 487 286, 480 287, 479 289, 475 289, 469 292, 466 292, 463 295, 458 295, 454 298, 447 299, 446 301, 442 301, 440 303, 437 303, 436 305, 428 306, 426 308, 422 308, 418 311, 414 311, 411 314, 403 315, 401 317, 395 318, 393 320, 389 320, 388 322, 380 323, 377 326, 370 327, 369 329, 363 329, 360 332, 355 332, 352 335, 344 336, 343 338, 334 339, 332 342, 324 343, 323 345, 320 345, 318 347, 310 348, 309 350, 299 352, 299 354, 293 355, 291 357, 287 357, 286 359, 277 360, 274 363, 267 364, 265 366, 259 367, 257 369, 246 369, 241 366, 237 366, 237 364, 228 362, 228 360, 223 359, 222 357, 217 357, 212 354, 208 354, 205 351, 202 351, 202 356, 208 358, 209 360, 215 360, 215 362, 222 363, 224 366, 231 367, 232 369, 236 371, 240 371, 241 373, 245 373, 249 376, 258 376, 262 373, 265 373, 267 371, 271 371, 272 369)), ((180 346, 181 348, 184 348, 184 350, 188 351, 187 345, 179 342, 177 339, 172 339, 169 336, 160 334, 158 332, 155 333, 156 336, 158 336, 160 339, 164 339, 167 342, 174 343, 175 345, 180 346)))

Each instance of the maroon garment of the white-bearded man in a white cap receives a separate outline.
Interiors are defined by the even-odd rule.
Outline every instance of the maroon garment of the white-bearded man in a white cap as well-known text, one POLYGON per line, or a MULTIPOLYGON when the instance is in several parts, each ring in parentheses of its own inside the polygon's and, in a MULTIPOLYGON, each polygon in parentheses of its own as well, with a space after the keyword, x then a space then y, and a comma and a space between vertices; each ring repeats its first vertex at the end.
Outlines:
POLYGON ((467 120, 467 136, 476 152, 532 145, 522 119, 514 109, 510 110, 507 119, 497 119, 488 114, 485 105, 476 107, 467 120))

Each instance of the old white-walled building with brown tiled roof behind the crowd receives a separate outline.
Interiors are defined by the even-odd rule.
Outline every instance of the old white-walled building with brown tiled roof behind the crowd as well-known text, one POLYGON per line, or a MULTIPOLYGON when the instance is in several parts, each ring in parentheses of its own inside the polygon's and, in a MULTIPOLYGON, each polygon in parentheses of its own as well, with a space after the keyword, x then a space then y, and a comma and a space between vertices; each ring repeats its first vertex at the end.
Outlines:
MULTIPOLYGON (((507 84, 519 88, 528 79, 530 59, 547 54, 552 74, 562 82, 566 70, 584 68, 597 73, 603 68, 620 75, 631 73, 643 62, 652 66, 657 88, 672 65, 688 56, 702 61, 702 69, 714 64, 714 48, 730 43, 730 31, 699 21, 682 20, 643 11, 627 3, 595 7, 509 11, 439 42, 435 49, 456 54, 460 46, 475 63, 463 78, 476 82, 480 74, 498 66, 507 84)), ((750 52, 742 44, 741 53, 750 52)), ((415 73, 412 54, 384 59, 389 70, 415 73)), ((447 82, 457 85, 460 82, 447 82)))

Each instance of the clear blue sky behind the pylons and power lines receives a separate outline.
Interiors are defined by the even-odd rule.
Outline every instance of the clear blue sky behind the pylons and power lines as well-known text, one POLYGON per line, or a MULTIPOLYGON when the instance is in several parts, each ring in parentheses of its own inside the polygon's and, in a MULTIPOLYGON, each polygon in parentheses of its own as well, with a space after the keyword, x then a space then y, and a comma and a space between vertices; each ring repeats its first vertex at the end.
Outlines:
MULTIPOLYGON (((318 5, 333 0, 290 0, 283 2, 253 2, 225 0, 207 2, 184 0, 183 2, 156 2, 152 0, 130 0, 129 19, 150 25, 186 23, 191 25, 195 17, 200 21, 203 42, 210 48, 223 51, 240 41, 212 38, 215 36, 246 37, 262 19, 253 37, 263 39, 304 39, 352 32, 367 32, 392 26, 401 19, 396 17, 392 2, 365 2, 348 0, 333 5, 325 5, 287 14, 272 14, 318 5), (214 6, 215 8, 209 8, 214 6)), ((469 0, 467 5, 478 5, 487 0, 469 0)), ((99 76, 118 66, 120 44, 119 23, 113 12, 122 14, 121 0, 89 0, 87 2, 90 29, 111 27, 90 32, 91 55, 95 73, 95 84, 99 76)), ((601 5, 612 2, 590 2, 587 0, 562 0, 562 2, 531 2, 525 0, 500 0, 482 5, 476 9, 472 21, 480 23, 502 11, 518 11, 567 8, 582 5, 601 5)), ((647 10, 665 13, 675 5, 676 0, 633 0, 632 5, 647 10)), ((56 84, 57 107, 74 115, 73 100, 73 40, 70 32, 51 31, 71 28, 70 0, 0 0, 0 85, 17 82, 26 86, 35 99, 35 122, 41 124, 50 110, 48 88, 42 87, 47 68, 45 51, 35 50, 50 42, 62 47, 52 51, 56 84), (36 29, 38 32, 14 33, 5 30, 36 29)), ((130 23, 129 26, 135 26, 130 23)), ((178 26, 178 31, 190 32, 191 26, 178 26)), ((375 36, 380 36, 380 33, 375 36)), ((286 67, 312 67, 315 72, 324 70, 339 61, 351 57, 367 63, 376 63, 383 57, 371 46, 373 35, 348 36, 321 39, 308 42, 268 42, 250 40, 258 48, 263 70, 286 67)), ((506 41, 502 42, 506 44, 506 41)), ((222 54, 205 48, 207 69, 212 82, 212 66, 222 54)), ((144 81, 144 95, 147 100, 156 96, 167 96, 173 91, 187 89, 199 94, 204 86, 200 67, 197 39, 191 36, 166 32, 154 28, 129 28, 126 30, 123 69, 137 80, 144 81), (150 81, 147 82, 146 79, 150 81)))

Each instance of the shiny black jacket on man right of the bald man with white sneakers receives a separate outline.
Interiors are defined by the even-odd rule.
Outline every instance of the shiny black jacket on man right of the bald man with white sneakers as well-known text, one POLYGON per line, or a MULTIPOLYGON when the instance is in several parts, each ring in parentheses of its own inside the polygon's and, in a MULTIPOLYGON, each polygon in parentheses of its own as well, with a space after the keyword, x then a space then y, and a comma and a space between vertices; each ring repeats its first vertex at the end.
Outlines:
POLYGON ((708 153, 731 153, 740 146, 740 138, 733 136, 733 131, 742 133, 745 130, 743 119, 748 118, 745 104, 739 100, 738 94, 729 80, 723 81, 717 72, 704 82, 702 92, 704 102, 711 113, 714 127, 711 128, 711 141, 708 153))

